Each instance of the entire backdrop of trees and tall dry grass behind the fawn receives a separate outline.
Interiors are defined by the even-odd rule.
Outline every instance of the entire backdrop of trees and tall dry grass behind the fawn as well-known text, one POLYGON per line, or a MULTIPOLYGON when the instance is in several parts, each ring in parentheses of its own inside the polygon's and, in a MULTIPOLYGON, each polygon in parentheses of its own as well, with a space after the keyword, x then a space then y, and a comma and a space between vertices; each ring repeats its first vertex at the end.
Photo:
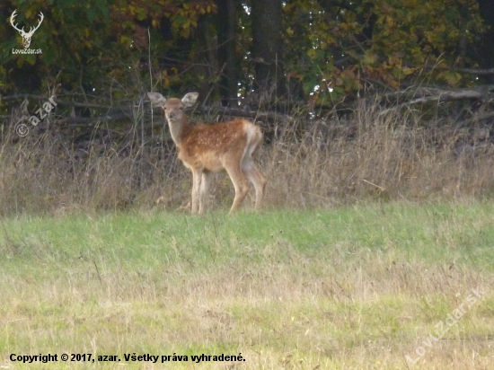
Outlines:
POLYGON ((0 19, 4 213, 183 205, 189 177, 148 91, 198 92, 194 119, 256 120, 274 206, 494 189, 487 0, 13 0, 0 19), (42 53, 14 52, 13 24, 40 13, 42 53))

